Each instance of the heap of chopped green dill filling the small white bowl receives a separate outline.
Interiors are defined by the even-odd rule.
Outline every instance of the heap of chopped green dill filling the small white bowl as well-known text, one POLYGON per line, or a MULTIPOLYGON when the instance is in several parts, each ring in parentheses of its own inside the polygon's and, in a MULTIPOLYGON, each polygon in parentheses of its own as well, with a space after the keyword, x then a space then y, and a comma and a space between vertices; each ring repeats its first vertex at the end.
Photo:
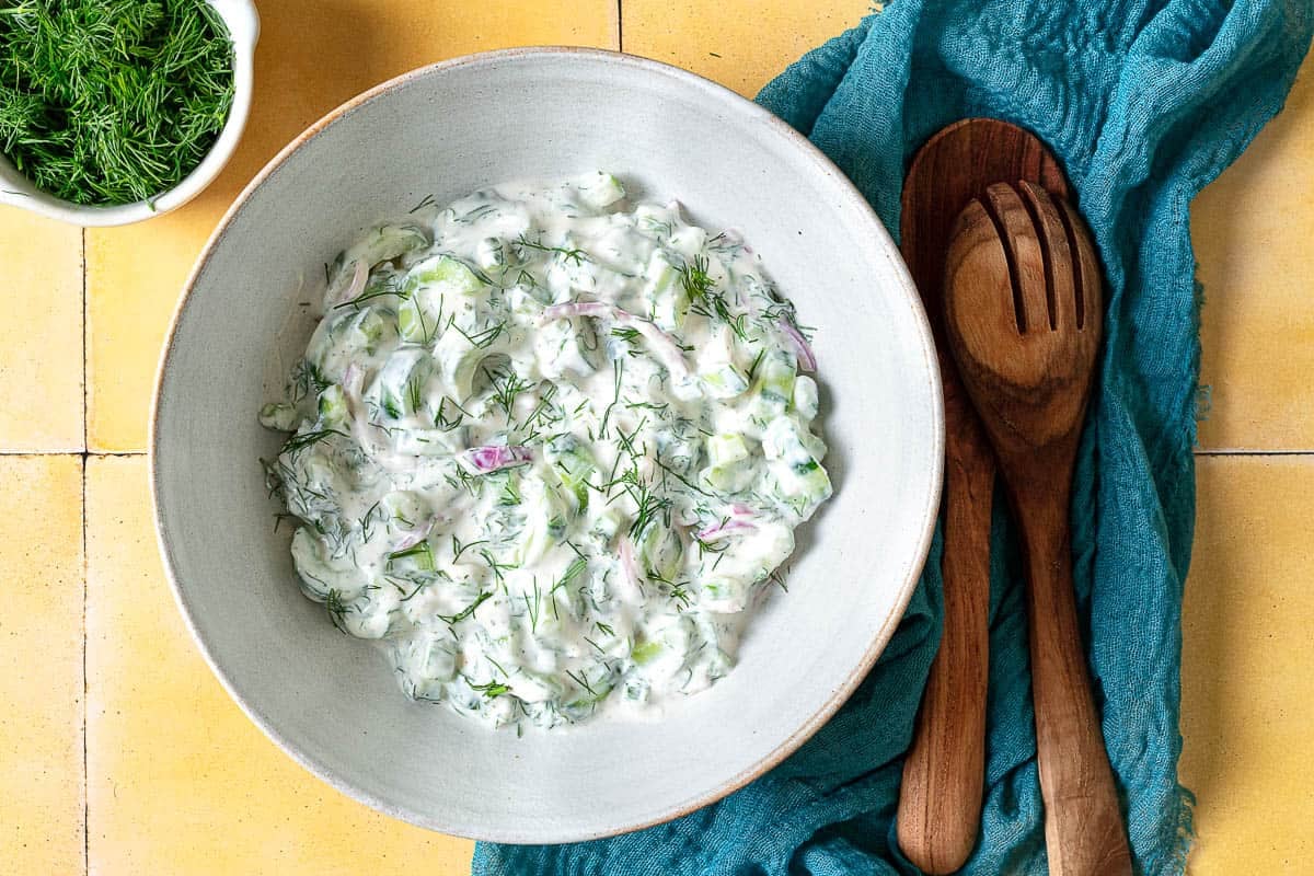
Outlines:
POLYGON ((233 106, 233 43, 204 0, 0 3, 0 151, 74 204, 172 189, 233 106))

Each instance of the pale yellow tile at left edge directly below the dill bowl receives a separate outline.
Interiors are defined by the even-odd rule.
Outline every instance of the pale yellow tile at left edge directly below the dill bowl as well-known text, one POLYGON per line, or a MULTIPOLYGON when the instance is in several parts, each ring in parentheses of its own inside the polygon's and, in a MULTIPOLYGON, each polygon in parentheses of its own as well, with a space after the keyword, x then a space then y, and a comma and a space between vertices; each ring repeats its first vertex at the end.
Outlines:
POLYGON ((0 267, 0 452, 80 450, 81 230, 3 206, 0 267))

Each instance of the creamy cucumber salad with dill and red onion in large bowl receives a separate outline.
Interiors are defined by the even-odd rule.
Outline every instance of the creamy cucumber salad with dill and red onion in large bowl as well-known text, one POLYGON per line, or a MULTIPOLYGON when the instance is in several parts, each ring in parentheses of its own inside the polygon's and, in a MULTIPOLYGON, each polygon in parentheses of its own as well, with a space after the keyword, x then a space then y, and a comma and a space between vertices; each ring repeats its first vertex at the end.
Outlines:
POLYGON ((735 663, 830 496, 808 330, 737 234, 616 177, 371 230, 264 462, 306 596, 491 725, 656 709, 735 663))

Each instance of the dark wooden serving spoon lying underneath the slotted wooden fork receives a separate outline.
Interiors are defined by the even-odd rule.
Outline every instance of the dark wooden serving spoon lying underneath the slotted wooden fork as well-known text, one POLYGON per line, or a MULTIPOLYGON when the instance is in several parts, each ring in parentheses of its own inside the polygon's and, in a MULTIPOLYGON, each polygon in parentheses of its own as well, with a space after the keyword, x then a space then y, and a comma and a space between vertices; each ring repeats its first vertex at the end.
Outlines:
POLYGON ((945 252, 954 219, 993 183, 1038 183, 1067 197, 1058 162, 1029 131, 970 118, 918 150, 900 236, 940 351, 945 387, 945 625, 899 791, 899 846, 928 873, 959 869, 976 844, 986 775, 989 531, 995 457, 943 331, 945 252))

